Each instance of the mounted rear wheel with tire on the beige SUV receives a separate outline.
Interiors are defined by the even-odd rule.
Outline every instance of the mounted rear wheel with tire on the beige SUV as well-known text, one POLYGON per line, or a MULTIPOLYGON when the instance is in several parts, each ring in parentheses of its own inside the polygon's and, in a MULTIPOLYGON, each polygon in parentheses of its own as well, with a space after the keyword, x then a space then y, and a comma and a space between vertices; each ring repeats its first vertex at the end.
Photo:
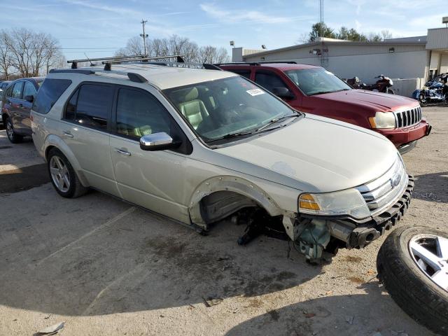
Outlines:
POLYGON ((47 160, 50 181, 59 195, 66 198, 76 198, 87 193, 69 160, 57 148, 52 148, 47 160))

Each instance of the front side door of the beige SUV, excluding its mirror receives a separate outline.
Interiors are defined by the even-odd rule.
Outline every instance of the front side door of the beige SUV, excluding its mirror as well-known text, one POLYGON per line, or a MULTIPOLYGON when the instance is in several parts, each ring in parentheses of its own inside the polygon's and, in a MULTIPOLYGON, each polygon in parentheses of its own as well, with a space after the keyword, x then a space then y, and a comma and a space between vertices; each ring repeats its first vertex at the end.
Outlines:
POLYGON ((111 157, 123 199, 190 223, 184 188, 188 183, 188 155, 143 151, 139 146, 139 139, 148 134, 166 132, 179 138, 181 130, 176 122, 153 94, 135 87, 119 87, 115 111, 111 157))

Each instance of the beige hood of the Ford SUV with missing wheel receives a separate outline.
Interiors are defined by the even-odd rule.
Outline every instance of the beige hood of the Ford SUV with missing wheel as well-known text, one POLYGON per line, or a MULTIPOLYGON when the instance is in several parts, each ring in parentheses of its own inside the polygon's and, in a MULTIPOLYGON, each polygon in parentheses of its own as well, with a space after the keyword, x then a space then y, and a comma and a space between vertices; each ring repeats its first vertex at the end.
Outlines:
POLYGON ((398 155, 381 134, 310 115, 262 137, 214 151, 228 157, 223 162, 232 170, 248 174, 246 169, 251 167, 253 176, 311 193, 343 190, 377 179, 398 155))

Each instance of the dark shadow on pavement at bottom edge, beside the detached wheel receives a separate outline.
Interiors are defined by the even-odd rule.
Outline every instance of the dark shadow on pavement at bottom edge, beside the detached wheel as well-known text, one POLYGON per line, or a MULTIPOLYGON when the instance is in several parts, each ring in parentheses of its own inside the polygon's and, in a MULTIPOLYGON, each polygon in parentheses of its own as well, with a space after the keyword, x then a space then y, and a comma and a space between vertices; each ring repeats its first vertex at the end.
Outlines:
POLYGON ((361 288, 365 294, 321 297, 268 311, 225 335, 434 335, 402 313, 377 281, 361 288))

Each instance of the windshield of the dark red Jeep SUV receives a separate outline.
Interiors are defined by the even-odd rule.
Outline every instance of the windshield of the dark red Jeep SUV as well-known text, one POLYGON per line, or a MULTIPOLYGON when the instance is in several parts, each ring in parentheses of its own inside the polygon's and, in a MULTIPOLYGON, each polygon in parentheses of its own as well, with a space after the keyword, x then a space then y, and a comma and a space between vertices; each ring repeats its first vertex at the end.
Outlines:
POLYGON ((288 70, 285 72, 307 96, 351 90, 351 87, 344 80, 337 78, 334 73, 323 68, 288 70))

